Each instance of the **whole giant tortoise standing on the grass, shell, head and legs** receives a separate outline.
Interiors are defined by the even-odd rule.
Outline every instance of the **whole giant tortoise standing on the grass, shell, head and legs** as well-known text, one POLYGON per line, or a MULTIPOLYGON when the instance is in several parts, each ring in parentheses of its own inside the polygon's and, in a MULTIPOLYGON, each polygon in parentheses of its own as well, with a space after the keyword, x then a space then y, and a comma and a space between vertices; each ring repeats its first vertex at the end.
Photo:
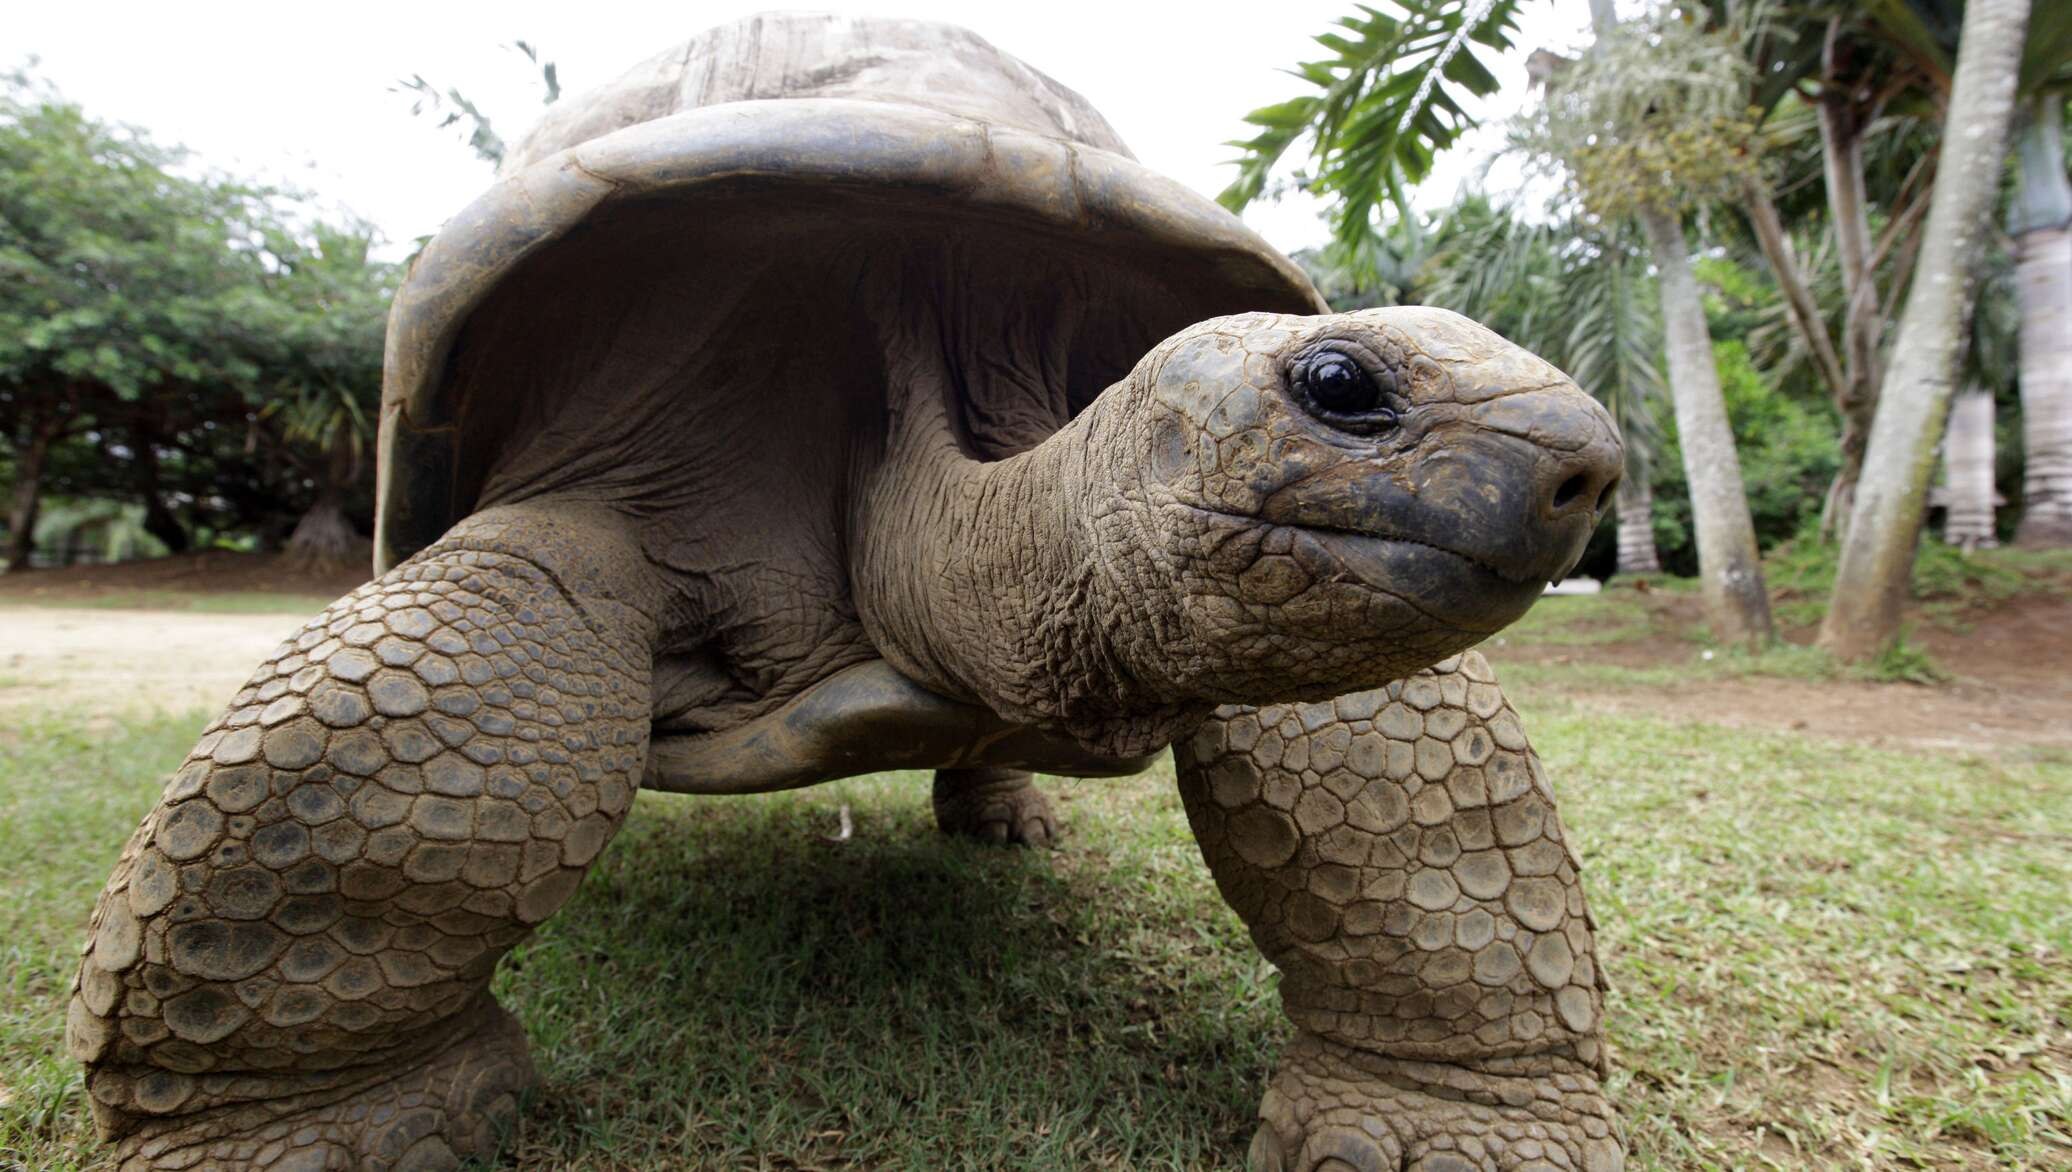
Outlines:
POLYGON ((1481 658, 1610 418, 1301 275, 984 41, 762 17, 570 104, 398 294, 381 576, 255 673, 93 911, 124 1168, 450 1168, 535 1073, 489 996, 636 789, 1173 745, 1287 975, 1258 1168, 1604 1170, 1600 973, 1481 658), (1436 665, 1436 667, 1434 667, 1436 665))

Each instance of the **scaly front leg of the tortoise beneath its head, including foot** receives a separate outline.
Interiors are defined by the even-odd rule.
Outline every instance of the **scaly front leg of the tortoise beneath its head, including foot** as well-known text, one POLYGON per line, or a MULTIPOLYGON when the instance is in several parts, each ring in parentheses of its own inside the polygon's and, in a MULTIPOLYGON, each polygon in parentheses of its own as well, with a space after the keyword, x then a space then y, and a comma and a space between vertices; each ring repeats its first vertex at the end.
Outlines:
POLYGON ((1175 745, 1216 886, 1283 971, 1270 1172, 1608 1172, 1602 975, 1554 795, 1479 654, 1175 745))

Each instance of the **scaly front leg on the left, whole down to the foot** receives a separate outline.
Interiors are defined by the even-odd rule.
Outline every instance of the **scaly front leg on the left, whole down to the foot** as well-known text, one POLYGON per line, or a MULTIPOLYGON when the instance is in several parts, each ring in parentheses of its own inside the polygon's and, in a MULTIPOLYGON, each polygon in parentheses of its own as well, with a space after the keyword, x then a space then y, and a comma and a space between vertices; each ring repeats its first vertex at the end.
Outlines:
POLYGON ((450 1168, 516 1124, 489 973, 632 803, 653 638, 510 553, 566 532, 466 530, 282 644, 122 851, 66 1023, 122 1168, 450 1168))

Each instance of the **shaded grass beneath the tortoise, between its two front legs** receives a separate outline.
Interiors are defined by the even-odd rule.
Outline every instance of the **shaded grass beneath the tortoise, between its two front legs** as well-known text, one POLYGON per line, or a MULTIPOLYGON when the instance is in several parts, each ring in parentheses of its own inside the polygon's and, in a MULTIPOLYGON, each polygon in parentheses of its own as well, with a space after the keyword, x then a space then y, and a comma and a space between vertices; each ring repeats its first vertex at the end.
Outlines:
POLYGON ((545 1077, 520 1160, 1200 1168, 1283 1035, 1200 861, 939 837, 922 799, 644 801, 499 977, 545 1077))

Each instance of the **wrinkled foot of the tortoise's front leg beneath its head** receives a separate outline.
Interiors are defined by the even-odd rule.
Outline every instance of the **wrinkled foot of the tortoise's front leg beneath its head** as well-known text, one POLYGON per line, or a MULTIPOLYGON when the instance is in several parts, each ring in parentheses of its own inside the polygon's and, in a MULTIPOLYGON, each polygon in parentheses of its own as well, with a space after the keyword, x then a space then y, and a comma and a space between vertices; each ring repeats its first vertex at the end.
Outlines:
POLYGON ((1585 1066, 1407 1062, 1299 1035, 1260 1104, 1251 1172, 1618 1172, 1585 1066))

